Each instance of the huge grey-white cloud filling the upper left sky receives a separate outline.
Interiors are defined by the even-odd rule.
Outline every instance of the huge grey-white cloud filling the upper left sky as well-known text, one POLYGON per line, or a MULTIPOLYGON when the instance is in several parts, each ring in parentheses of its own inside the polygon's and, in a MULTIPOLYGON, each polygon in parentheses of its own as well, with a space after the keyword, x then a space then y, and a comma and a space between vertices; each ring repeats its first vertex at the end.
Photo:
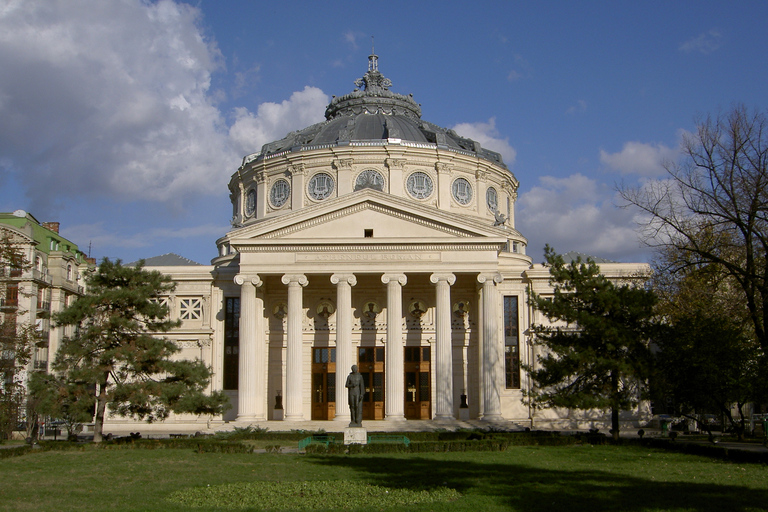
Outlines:
POLYGON ((170 0, 6 4, 0 158, 36 212, 81 194, 220 190, 238 157, 208 97, 221 56, 199 17, 170 0))

